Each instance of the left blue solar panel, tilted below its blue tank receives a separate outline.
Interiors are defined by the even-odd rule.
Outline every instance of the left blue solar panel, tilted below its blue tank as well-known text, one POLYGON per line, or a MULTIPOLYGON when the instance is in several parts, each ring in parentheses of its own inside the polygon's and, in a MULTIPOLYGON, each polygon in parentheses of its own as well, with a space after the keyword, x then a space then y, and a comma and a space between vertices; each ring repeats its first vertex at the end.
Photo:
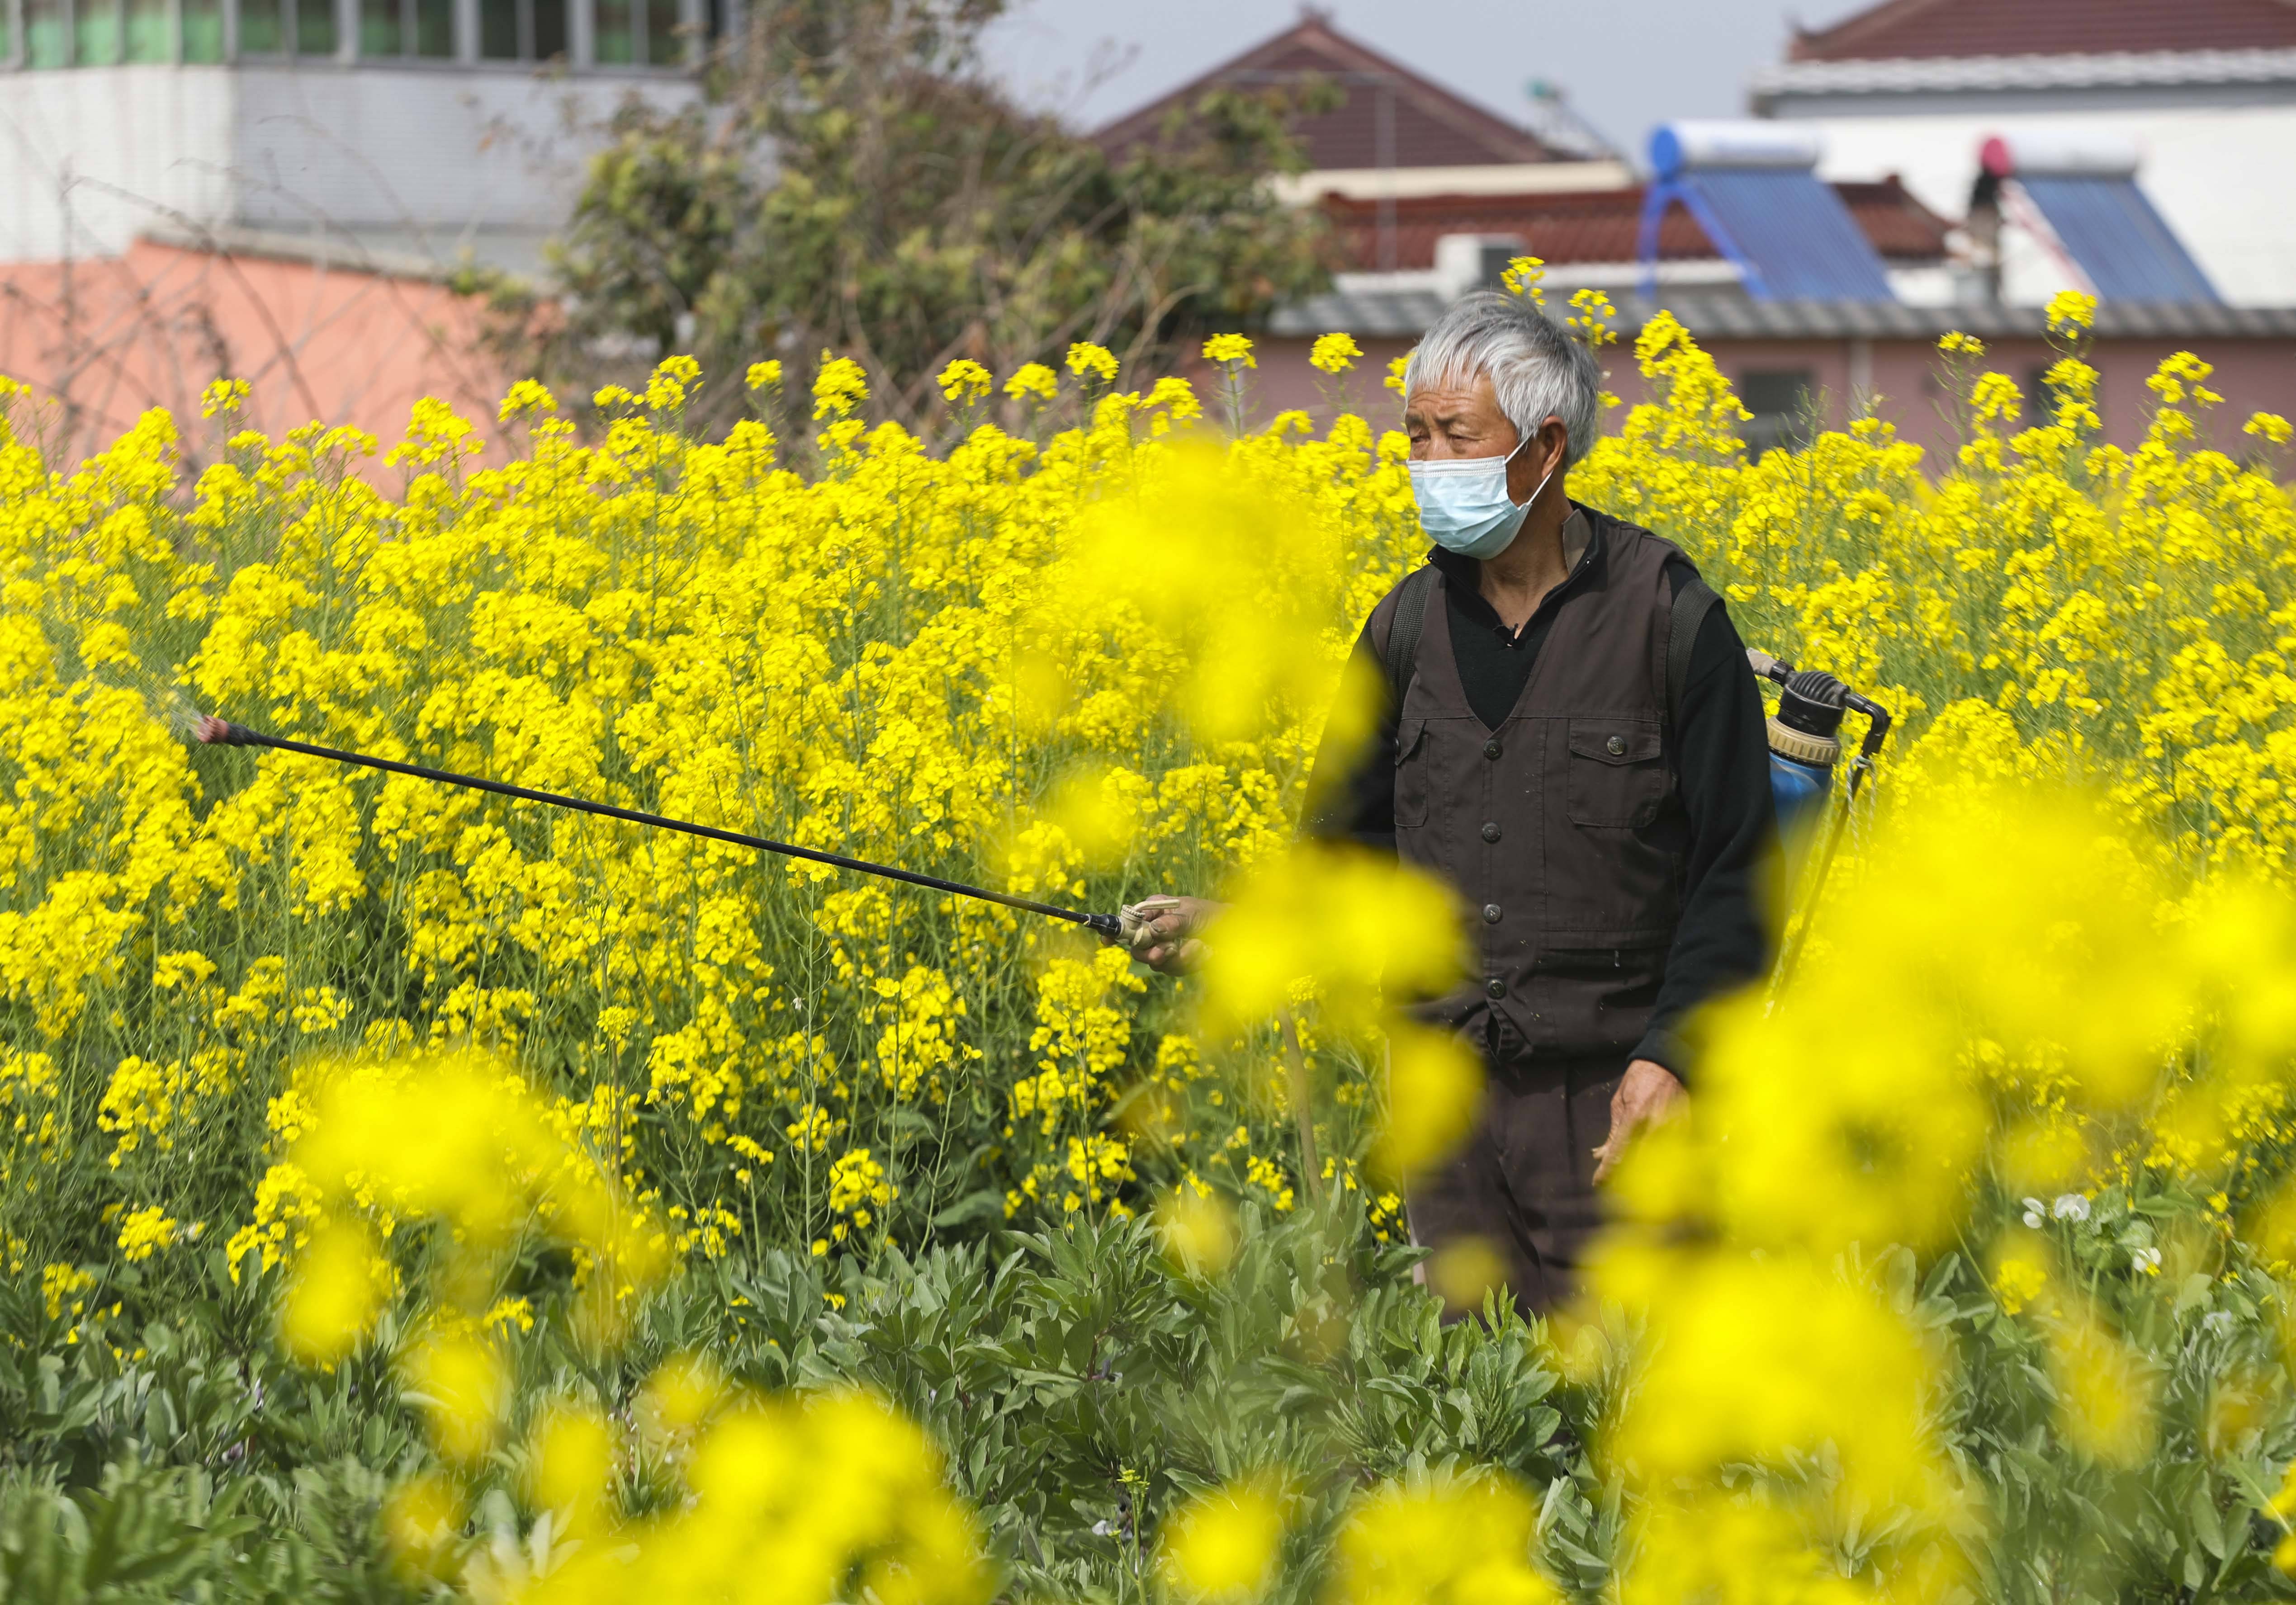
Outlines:
POLYGON ((1692 168, 1667 188, 1756 301, 1894 301, 1874 241, 1807 168, 1692 168))

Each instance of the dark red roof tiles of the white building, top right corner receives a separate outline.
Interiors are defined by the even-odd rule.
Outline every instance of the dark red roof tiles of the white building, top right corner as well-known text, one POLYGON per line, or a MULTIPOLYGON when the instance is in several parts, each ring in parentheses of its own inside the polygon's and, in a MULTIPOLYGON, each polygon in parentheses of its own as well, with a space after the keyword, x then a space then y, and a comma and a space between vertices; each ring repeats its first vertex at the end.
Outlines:
POLYGON ((2296 48, 2291 0, 1883 0, 1798 32, 1795 62, 2296 48))

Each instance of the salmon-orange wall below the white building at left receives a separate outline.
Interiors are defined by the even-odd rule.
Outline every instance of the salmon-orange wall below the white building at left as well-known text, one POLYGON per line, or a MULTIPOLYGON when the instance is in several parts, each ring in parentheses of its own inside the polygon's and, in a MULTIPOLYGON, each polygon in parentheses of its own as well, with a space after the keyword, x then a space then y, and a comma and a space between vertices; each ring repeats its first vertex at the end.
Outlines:
MULTIPOLYGON (((174 413, 186 457, 211 457, 200 390, 246 379, 241 427, 280 436, 312 418, 388 450, 436 395, 491 436, 503 377, 475 305, 452 289, 310 262, 138 241, 124 257, 0 264, 0 374, 57 402, 51 462, 76 462, 149 406, 174 413)), ((379 459, 365 473, 390 473, 379 459)))

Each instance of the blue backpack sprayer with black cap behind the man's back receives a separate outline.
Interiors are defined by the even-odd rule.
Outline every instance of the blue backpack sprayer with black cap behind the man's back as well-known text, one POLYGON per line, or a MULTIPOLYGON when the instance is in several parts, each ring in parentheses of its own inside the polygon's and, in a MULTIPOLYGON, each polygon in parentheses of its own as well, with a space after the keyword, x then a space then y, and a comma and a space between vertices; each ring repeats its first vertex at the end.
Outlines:
POLYGON ((1857 696, 1823 668, 1795 668, 1768 652, 1745 650, 1747 664, 1763 680, 1777 682, 1777 712, 1770 716, 1770 799, 1777 804, 1777 836, 1786 847, 1786 873, 1798 893, 1789 907, 1802 907, 1802 923, 1786 932, 1786 944, 1777 955, 1773 994, 1793 978, 1793 967, 1802 957, 1802 941, 1809 932, 1809 912, 1818 907, 1825 875, 1835 868, 1835 850, 1841 847, 1841 831, 1848 824, 1851 806, 1867 776, 1874 774, 1874 755, 1890 739, 1890 710, 1857 696), (1851 758, 1848 781, 1835 788, 1835 765, 1841 760, 1841 714, 1867 716, 1867 735, 1851 758), (1828 808, 1828 797, 1832 806, 1828 808), (1825 811, 1818 827, 1816 813, 1825 811), (1812 831, 1823 829, 1816 859, 1809 859, 1812 831))

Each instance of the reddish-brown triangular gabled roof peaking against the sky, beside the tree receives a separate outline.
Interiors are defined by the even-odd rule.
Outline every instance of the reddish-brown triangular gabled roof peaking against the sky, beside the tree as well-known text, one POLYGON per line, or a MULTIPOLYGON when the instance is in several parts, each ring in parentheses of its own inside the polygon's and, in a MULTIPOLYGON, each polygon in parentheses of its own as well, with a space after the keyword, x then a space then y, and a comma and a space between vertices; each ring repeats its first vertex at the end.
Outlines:
POLYGON ((1329 18, 1306 11, 1297 25, 1221 62, 1137 113, 1118 117, 1095 138, 1125 152, 1162 133, 1164 117, 1219 85, 1267 87, 1322 78, 1345 94, 1336 110, 1300 117, 1293 131, 1306 145, 1309 168, 1479 168, 1520 161, 1568 161, 1529 129, 1463 101, 1403 62, 1348 39, 1329 18), (1375 76, 1378 80, 1368 80, 1375 76), (1391 96, 1391 156, 1380 152, 1380 96, 1391 96))

